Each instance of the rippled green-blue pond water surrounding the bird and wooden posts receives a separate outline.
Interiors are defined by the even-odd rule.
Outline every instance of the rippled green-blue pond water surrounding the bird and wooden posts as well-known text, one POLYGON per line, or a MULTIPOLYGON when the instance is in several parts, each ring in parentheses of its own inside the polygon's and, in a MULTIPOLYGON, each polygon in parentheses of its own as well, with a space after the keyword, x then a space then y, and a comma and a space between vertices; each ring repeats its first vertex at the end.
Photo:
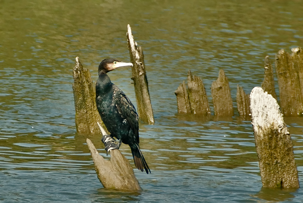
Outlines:
MULTIPOLYGON (((303 190, 262 187, 250 121, 237 116, 237 84, 263 81, 264 57, 303 46, 301 1, 0 1, 0 202, 302 202, 303 190), (77 134, 72 68, 129 61, 126 31, 144 51, 154 125, 140 124, 151 174, 143 188, 102 187, 85 139, 106 156, 99 135, 77 134), (180 115, 174 91, 188 69, 209 97, 224 69, 235 117, 180 115)), ((109 73, 135 104, 131 69, 109 73)), ((278 87, 276 89, 278 94, 278 87)), ((213 109, 212 109, 213 112, 213 109)), ((285 118, 303 181, 303 119, 285 118)), ((128 146, 122 153, 130 160, 128 146)))

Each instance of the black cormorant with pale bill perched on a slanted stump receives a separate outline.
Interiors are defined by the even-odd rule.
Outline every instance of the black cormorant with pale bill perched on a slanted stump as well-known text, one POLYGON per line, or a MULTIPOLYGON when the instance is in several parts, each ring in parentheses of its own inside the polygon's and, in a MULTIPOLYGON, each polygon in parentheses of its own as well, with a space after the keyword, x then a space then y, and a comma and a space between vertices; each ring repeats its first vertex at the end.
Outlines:
MULTIPOLYGON (((135 166, 146 173, 150 169, 139 148, 138 114, 128 97, 109 79, 108 73, 121 66, 132 66, 117 59, 104 59, 99 67, 96 83, 96 104, 110 137, 116 137, 118 144, 107 142, 105 150, 119 149, 121 143, 128 144, 132 151, 135 166)), ((103 140, 102 140, 103 141, 103 140)))

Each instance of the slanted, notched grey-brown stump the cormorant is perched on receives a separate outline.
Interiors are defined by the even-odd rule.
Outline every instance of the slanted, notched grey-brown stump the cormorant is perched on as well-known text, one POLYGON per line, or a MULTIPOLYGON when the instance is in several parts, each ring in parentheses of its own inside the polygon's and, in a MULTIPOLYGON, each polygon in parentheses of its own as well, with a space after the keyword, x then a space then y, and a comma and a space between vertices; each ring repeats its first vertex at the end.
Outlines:
MULTIPOLYGON (((106 134, 104 129, 102 129, 102 134, 106 134)), ((104 188, 127 191, 142 190, 132 166, 118 149, 109 151, 111 159, 108 161, 98 153, 91 140, 86 139, 86 143, 91 152, 98 179, 104 188)))

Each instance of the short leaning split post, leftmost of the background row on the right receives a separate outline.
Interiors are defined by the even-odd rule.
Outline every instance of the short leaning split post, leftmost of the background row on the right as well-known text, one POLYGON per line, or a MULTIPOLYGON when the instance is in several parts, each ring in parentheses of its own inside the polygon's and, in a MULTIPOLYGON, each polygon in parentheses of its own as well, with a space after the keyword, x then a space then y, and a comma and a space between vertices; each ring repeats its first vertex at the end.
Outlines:
POLYGON ((185 81, 178 86, 175 95, 177 97, 178 113, 191 113, 185 81))

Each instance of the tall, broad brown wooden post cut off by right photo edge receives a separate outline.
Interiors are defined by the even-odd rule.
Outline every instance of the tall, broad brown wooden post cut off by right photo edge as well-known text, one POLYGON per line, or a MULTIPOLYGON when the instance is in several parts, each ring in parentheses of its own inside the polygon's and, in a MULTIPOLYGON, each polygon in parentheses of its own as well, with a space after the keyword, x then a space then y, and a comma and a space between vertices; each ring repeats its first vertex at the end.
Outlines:
MULTIPOLYGON (((293 54, 293 56, 295 55, 297 54, 293 54)), ((293 56, 281 49, 275 57, 281 111, 285 116, 296 116, 303 113, 300 79, 294 66, 293 56)), ((300 57, 294 58, 299 59, 300 57)))

